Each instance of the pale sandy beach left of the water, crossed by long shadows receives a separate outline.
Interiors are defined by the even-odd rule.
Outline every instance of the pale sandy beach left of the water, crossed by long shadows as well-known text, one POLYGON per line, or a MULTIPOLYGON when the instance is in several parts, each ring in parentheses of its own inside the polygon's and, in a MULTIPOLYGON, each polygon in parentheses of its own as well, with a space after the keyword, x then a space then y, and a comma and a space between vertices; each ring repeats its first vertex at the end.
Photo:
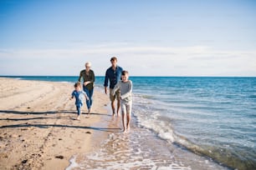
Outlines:
POLYGON ((92 113, 84 103, 78 121, 73 90, 64 82, 0 78, 0 169, 64 169, 107 137, 100 120, 110 117, 108 96, 95 90, 92 113))

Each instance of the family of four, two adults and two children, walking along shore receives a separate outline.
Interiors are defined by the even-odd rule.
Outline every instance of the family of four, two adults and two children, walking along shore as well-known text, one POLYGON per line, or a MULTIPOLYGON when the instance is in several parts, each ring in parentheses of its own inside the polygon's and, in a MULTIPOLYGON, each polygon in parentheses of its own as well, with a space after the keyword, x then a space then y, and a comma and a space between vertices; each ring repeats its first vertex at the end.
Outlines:
MULTIPOLYGON (((119 116, 119 110, 121 107, 123 132, 126 133, 130 130, 131 121, 131 105, 132 105, 132 82, 129 80, 129 73, 123 70, 122 67, 117 65, 117 58, 110 58, 111 66, 105 72, 105 93, 110 93, 110 102, 112 108, 112 115, 115 116, 115 99, 117 101, 116 115, 119 116), (125 118, 126 117, 126 118, 125 118)), ((86 99, 86 105, 88 108, 88 114, 90 114, 93 103, 94 82, 95 73, 90 69, 91 63, 85 63, 85 69, 79 74, 78 82, 74 84, 74 92, 72 92, 70 99, 75 97, 75 106, 77 109, 79 120, 81 114, 81 107, 83 107, 84 97, 86 99), (80 83, 83 78, 83 87, 80 83)))

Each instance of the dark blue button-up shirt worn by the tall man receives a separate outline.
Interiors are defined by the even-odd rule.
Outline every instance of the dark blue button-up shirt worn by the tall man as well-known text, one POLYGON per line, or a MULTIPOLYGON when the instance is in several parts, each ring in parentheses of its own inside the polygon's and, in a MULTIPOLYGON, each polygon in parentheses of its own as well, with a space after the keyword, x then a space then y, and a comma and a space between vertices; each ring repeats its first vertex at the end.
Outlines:
POLYGON ((114 88, 115 84, 120 81, 122 71, 123 68, 119 66, 116 66, 115 70, 113 70, 112 67, 109 67, 105 72, 104 86, 107 87, 110 80, 110 88, 114 88))

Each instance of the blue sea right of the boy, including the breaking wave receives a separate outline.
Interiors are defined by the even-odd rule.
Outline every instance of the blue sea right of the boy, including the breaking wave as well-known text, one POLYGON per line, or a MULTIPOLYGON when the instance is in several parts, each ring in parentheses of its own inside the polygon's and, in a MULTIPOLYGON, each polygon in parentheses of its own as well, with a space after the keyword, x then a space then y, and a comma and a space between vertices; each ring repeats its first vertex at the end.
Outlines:
POLYGON ((256 168, 255 77, 134 77, 143 128, 230 168, 256 168))

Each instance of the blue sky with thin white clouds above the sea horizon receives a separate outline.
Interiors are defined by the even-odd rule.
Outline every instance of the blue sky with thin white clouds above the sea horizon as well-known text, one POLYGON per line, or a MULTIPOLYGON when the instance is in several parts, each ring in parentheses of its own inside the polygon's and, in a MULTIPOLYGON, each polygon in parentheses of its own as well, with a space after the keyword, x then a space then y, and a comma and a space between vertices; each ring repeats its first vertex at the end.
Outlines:
POLYGON ((0 0, 0 75, 256 76, 255 0, 0 0))

